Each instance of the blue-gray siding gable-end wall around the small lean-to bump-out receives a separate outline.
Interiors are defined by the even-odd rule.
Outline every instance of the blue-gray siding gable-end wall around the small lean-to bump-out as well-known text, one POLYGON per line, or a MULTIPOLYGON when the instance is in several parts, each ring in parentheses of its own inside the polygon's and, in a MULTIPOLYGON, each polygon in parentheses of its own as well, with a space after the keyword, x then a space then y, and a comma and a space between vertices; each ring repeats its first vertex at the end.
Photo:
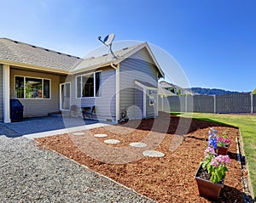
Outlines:
MULTIPOLYGON (((136 54, 133 54, 129 59, 125 59, 120 64, 120 111, 127 110, 130 119, 141 119, 137 117, 136 109, 141 108, 136 105, 137 85, 135 81, 147 82, 151 87, 158 87, 157 69, 151 61, 150 55, 146 48, 143 48, 136 54)), ((155 95, 155 104, 157 107, 157 94, 155 95)), ((149 106, 148 97, 146 112, 147 117, 156 116, 152 106, 149 106)), ((156 108, 157 109, 157 108, 156 108)))

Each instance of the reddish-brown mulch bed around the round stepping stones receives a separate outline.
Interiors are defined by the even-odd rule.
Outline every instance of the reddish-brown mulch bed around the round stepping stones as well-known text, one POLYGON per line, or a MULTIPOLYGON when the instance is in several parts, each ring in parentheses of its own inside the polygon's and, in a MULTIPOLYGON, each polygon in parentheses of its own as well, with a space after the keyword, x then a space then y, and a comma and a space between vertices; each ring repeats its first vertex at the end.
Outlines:
POLYGON ((199 196, 194 178, 207 148, 210 127, 219 133, 227 130, 231 139, 228 152, 231 163, 218 202, 242 202, 241 163, 236 154, 239 131, 235 127, 163 113, 156 119, 87 130, 81 136, 66 133, 36 140, 42 147, 158 202, 212 202, 199 196), (108 137, 95 138, 96 133, 106 133, 108 137), (108 138, 119 139, 120 144, 104 144, 108 138), (148 146, 134 148, 129 146, 131 142, 148 146), (165 157, 144 157, 143 150, 147 149, 158 150, 165 157))

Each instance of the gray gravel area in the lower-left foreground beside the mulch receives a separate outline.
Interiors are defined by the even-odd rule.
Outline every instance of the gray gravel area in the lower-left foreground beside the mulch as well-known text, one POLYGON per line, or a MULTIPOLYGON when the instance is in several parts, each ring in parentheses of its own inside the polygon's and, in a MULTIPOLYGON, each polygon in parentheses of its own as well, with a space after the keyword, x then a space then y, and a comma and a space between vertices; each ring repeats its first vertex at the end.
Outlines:
POLYGON ((0 136, 0 202, 154 202, 27 138, 0 136))

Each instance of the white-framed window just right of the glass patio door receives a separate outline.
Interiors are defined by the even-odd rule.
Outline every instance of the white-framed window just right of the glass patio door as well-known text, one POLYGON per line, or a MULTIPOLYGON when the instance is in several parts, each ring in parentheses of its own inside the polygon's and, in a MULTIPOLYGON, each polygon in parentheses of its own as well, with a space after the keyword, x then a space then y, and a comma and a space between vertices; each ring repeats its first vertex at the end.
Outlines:
POLYGON ((76 77, 77 98, 101 97, 102 74, 95 72, 76 77))

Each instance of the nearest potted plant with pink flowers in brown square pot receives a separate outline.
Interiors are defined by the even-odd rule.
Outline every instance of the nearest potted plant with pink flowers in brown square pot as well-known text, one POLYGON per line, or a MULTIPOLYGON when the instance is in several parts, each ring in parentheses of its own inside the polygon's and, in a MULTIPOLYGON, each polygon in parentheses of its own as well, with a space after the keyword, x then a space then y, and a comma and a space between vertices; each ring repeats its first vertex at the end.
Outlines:
POLYGON ((218 155, 208 147, 205 158, 195 172, 195 181, 199 194, 212 200, 218 200, 220 190, 224 187, 225 172, 230 164, 229 155, 218 155))

